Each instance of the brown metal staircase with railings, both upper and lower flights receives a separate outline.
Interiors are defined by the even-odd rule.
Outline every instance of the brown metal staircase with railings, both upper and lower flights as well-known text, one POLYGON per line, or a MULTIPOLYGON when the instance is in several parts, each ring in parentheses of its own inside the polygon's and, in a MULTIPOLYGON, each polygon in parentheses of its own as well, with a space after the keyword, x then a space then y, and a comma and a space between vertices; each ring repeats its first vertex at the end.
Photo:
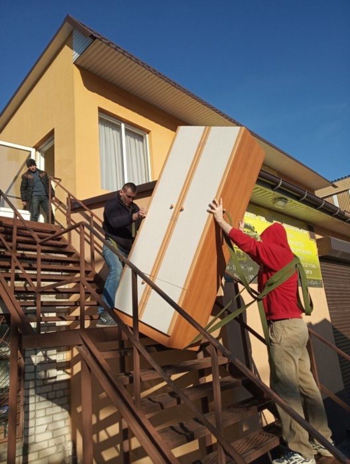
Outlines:
MULTIPOLYGON (((59 180, 52 181, 62 187, 59 180)), ((133 272, 133 328, 110 311, 117 327, 96 329, 96 307, 104 303, 98 292, 95 262, 102 244, 110 245, 100 233, 101 219, 62 188, 67 200, 66 204, 56 202, 60 225, 24 221, 0 191, 14 213, 13 219, 0 218, 0 295, 11 316, 12 329, 8 463, 15 463, 16 455, 17 348, 66 345, 75 346, 81 356, 84 464, 92 463, 94 456, 92 379, 100 383, 123 418, 125 464, 132 462, 128 448, 132 435, 154 463, 252 462, 280 443, 278 427, 272 433, 271 426, 265 429, 261 426, 260 413, 265 409, 274 413, 274 403, 290 413, 340 462, 349 462, 122 256, 133 272), (71 213, 73 202, 81 206, 85 220, 73 219, 76 217, 71 213), (139 333, 137 278, 149 284, 202 334, 203 342, 197 352, 179 352, 179 358, 186 359, 178 361, 175 350, 139 333), (64 323, 59 330, 57 322, 64 323), (190 379, 187 382, 186 376, 190 379), (161 391, 147 394, 149 382, 157 379, 163 382, 161 391), (248 427, 252 422, 254 426, 248 427), (247 430, 242 432, 245 427, 247 430), (198 449, 189 454, 189 460, 180 461, 173 450, 196 440, 198 449)), ((118 255, 118 251, 110 248, 118 255)))

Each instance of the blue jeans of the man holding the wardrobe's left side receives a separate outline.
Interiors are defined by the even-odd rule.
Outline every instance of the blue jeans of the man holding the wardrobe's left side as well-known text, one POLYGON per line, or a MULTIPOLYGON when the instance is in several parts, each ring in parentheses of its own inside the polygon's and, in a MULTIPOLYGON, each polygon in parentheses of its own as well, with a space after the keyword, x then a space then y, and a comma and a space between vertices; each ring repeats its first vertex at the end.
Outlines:
MULTIPOLYGON (((121 249, 119 249, 118 251, 120 251, 127 258, 127 252, 121 251, 121 249)), ((121 280, 121 271, 123 270, 123 263, 117 257, 117 255, 113 253, 113 251, 109 250, 109 248, 106 245, 103 245, 102 256, 109 267, 108 276, 103 287, 102 300, 104 301, 104 303, 107 304, 108 308, 114 308, 115 294, 117 292, 117 288, 121 280)), ((104 310, 105 309, 103 308, 103 306, 99 306, 98 314, 101 314, 104 310)))

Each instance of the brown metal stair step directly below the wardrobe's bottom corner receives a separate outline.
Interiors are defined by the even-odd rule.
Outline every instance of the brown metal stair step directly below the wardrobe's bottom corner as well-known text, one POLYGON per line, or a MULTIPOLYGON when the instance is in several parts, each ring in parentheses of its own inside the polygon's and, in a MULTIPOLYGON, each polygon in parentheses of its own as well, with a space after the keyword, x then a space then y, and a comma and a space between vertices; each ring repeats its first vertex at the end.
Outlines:
MULTIPOLYGON (((218 356, 218 363, 219 365, 227 364, 229 360, 223 356, 218 356)), ((168 375, 171 374, 178 374, 181 372, 189 372, 189 371, 196 371, 198 369, 205 369, 207 367, 211 367, 211 358, 203 358, 203 359, 192 359, 191 361, 184 361, 178 364, 170 364, 168 366, 162 366, 165 372, 168 375)), ((146 380, 153 380, 159 379, 160 375, 154 369, 143 369, 140 372, 141 381, 146 380)), ((127 385, 129 383, 133 383, 134 373, 133 372, 126 372, 123 374, 118 374, 115 378, 123 383, 123 385, 127 385)))

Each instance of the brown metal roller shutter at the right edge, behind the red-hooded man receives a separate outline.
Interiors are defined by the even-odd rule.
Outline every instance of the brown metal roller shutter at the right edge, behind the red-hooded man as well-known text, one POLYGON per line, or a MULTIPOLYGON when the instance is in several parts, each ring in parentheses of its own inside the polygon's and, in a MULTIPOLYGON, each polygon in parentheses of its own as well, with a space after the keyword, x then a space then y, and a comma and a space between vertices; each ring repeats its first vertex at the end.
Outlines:
MULTIPOLYGON (((334 339, 337 347, 350 355, 350 266, 325 261, 320 264, 334 339)), ((341 356, 339 361, 350 398, 350 363, 341 356)))

